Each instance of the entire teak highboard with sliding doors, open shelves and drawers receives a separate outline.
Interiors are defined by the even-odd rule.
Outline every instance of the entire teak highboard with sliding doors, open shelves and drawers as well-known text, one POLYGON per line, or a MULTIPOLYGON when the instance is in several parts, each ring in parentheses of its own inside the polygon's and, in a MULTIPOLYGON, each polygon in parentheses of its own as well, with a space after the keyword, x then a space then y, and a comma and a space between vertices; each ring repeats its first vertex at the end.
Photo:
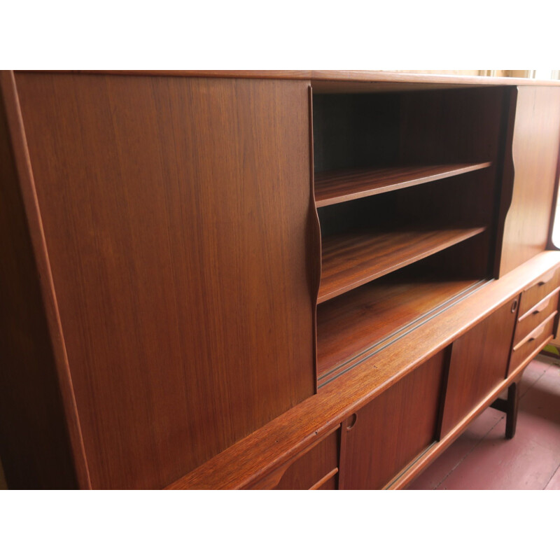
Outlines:
POLYGON ((0 76, 10 488, 399 489, 488 406, 513 437, 559 85, 0 76))

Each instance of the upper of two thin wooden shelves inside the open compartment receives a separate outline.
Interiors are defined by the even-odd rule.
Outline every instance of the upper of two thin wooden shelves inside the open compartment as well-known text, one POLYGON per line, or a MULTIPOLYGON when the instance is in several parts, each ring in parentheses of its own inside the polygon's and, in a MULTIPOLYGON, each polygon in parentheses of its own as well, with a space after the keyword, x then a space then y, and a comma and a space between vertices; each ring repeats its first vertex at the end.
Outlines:
POLYGON ((328 206, 329 204, 337 204, 356 198, 388 193, 390 190, 446 179, 490 166, 491 162, 484 162, 385 167, 383 169, 351 169, 318 173, 315 176, 315 203, 317 207, 328 206))

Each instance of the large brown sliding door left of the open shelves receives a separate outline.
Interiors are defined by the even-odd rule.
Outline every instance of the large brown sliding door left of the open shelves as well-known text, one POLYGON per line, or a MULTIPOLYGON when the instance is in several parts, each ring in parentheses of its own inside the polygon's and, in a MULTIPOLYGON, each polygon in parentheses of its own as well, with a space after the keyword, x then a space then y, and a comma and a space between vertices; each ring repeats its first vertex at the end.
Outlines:
POLYGON ((314 393, 308 83, 17 75, 95 488, 314 393))

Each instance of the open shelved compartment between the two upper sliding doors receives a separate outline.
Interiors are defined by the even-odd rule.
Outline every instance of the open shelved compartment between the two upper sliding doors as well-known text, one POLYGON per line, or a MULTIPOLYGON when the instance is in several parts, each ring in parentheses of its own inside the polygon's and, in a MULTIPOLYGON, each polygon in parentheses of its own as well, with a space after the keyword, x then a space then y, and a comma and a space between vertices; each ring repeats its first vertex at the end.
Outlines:
POLYGON ((507 91, 312 100, 321 388, 491 279, 507 91))

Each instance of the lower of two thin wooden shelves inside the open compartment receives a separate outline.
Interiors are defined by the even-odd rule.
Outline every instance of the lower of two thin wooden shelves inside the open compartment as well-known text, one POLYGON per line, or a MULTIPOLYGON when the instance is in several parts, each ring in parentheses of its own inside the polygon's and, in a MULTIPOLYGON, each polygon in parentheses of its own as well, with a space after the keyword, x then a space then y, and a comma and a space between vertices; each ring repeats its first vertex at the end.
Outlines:
POLYGON ((390 232, 353 232, 323 239, 321 286, 317 302, 393 272, 486 228, 426 230, 406 228, 390 232))

